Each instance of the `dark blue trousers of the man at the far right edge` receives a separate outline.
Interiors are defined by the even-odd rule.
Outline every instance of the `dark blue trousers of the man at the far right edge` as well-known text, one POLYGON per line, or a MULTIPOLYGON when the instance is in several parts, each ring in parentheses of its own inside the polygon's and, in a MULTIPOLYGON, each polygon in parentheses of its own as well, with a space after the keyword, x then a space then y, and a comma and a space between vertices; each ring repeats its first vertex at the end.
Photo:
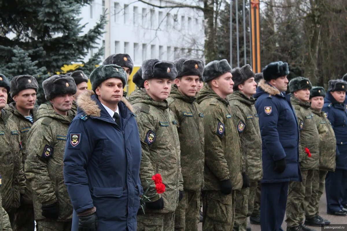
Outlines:
POLYGON ((347 170, 336 169, 328 172, 325 178, 325 194, 327 195, 327 212, 335 213, 341 210, 347 190, 347 170))

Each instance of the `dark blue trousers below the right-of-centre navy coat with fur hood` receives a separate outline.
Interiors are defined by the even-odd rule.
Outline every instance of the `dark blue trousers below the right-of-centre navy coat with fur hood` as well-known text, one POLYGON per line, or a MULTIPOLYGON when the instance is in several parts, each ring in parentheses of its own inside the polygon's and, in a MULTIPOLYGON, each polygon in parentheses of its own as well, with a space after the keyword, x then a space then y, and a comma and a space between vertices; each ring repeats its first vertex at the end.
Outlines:
POLYGON ((262 183, 260 196, 260 227, 262 231, 283 231, 288 183, 262 183))

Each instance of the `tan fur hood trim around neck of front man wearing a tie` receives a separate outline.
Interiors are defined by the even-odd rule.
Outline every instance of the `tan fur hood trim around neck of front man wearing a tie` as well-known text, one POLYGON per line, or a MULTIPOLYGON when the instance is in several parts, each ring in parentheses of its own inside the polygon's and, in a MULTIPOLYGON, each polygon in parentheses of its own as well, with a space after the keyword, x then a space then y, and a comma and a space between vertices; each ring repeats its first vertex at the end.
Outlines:
MULTIPOLYGON (((81 95, 77 97, 77 106, 79 107, 79 109, 83 110, 87 115, 100 117, 101 109, 99 105, 96 103, 96 101, 92 99, 93 95, 95 95, 95 93, 91 90, 83 92, 81 95)), ((121 101, 130 110, 130 112, 134 112, 133 107, 125 97, 122 97, 121 101)))

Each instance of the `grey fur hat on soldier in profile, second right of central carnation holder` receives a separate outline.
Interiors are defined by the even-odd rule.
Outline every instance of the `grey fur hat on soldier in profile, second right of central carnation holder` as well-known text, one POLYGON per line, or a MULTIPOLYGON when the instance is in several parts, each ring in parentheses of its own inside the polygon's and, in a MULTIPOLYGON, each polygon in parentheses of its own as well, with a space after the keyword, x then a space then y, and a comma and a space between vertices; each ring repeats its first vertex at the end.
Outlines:
POLYGON ((211 81, 212 79, 220 77, 222 74, 225 74, 227 72, 231 73, 231 66, 226 59, 222 59, 220 61, 214 60, 212 62, 209 62, 205 66, 202 79, 206 83, 211 81))

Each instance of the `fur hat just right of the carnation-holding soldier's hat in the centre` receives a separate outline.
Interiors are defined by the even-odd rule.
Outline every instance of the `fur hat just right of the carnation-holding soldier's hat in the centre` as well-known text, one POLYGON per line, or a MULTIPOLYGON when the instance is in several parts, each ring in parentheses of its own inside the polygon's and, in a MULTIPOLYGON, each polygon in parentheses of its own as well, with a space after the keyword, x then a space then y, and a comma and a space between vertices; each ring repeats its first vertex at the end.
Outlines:
POLYGON ((200 59, 177 59, 174 61, 177 78, 186 75, 197 75, 199 78, 204 73, 204 63, 200 59))

